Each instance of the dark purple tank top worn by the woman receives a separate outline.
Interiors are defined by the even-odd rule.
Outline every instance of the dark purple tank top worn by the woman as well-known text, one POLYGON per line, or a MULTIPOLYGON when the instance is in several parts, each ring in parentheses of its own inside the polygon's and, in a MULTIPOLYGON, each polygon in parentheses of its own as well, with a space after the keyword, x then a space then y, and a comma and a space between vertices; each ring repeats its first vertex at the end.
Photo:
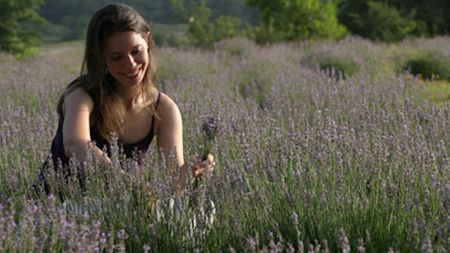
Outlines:
MULTIPOLYGON (((159 98, 161 96, 161 93, 158 93, 158 98, 156 100, 156 106, 155 108, 158 108, 159 104, 159 98)), ((151 127, 150 131, 147 133, 147 135, 141 139, 138 142, 135 143, 126 143, 126 144, 120 144, 123 153, 127 158, 137 158, 138 161, 141 161, 143 156, 147 153, 148 147, 150 146, 150 143, 153 140, 154 136, 154 122, 155 116, 152 117, 151 127)), ((56 130, 56 135, 53 138, 52 146, 51 146, 51 157, 53 161, 54 168, 58 168, 59 166, 67 166, 69 164, 69 157, 66 156, 64 152, 64 145, 63 145, 63 122, 64 119, 60 118, 58 122, 58 129, 56 130)), ((90 128, 90 134, 91 134, 91 140, 95 142, 96 146, 100 148, 101 150, 106 149, 108 152, 108 155, 111 155, 111 146, 109 142, 103 138, 100 134, 100 132, 97 130, 96 126, 93 126, 90 128)), ((47 161, 45 163, 48 163, 50 161, 47 161)), ((45 165, 44 165, 45 166, 45 165)))

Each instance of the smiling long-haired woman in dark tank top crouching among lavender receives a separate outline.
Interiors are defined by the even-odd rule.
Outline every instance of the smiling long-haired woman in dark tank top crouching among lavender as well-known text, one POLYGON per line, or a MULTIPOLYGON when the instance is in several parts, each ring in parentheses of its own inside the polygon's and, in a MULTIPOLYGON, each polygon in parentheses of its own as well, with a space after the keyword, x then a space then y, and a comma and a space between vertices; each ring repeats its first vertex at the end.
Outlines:
MULTIPOLYGON (((181 114, 174 101, 155 87, 153 49, 148 24, 131 7, 110 4, 92 17, 81 75, 58 103, 60 120, 47 164, 64 167, 72 156, 83 161, 92 149, 109 166, 113 139, 126 157, 140 158, 156 136, 166 161, 175 152, 184 182, 181 114)), ((192 173, 201 177, 213 165, 208 155, 206 161, 194 162, 192 173)))

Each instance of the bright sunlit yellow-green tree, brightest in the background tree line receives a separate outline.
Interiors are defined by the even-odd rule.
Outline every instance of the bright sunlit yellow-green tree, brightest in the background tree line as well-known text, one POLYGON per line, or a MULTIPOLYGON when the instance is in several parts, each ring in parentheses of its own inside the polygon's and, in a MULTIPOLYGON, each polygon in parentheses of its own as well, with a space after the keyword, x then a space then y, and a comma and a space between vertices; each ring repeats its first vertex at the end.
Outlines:
POLYGON ((247 0, 260 11, 256 31, 260 42, 338 39, 346 29, 337 20, 337 7, 327 0, 247 0))

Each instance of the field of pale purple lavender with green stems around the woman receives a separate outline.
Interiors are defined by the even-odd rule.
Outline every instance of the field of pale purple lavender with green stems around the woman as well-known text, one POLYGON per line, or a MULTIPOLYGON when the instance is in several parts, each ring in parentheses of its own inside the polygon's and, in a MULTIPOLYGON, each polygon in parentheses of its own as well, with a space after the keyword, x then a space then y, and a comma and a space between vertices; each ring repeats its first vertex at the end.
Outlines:
POLYGON ((0 54, 0 252, 448 252, 450 85, 400 71, 427 50, 450 57, 450 38, 158 48, 185 155, 205 119, 222 125, 216 170, 182 200, 155 145, 144 167, 87 161, 84 190, 50 175, 64 201, 35 193, 82 45, 0 54))

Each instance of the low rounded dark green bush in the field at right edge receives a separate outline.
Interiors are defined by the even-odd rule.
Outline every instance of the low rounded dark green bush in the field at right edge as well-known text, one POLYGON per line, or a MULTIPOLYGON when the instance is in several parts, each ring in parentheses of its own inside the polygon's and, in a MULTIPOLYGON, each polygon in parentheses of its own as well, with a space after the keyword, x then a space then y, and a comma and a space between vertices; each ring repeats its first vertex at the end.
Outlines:
POLYGON ((437 52, 424 52, 407 59, 403 70, 425 80, 450 80, 450 58, 437 52))

